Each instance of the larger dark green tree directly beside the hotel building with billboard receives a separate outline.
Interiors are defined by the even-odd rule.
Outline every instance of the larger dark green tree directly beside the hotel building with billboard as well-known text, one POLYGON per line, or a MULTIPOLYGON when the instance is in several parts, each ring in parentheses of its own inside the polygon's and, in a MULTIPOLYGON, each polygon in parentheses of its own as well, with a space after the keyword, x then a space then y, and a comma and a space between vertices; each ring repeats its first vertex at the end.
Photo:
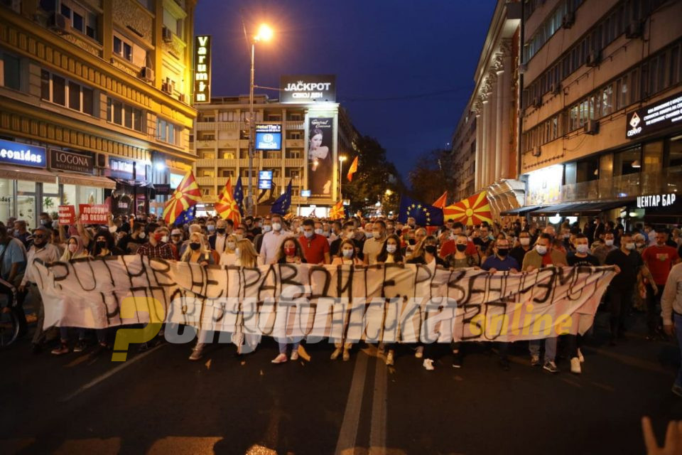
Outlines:
MULTIPOLYGON (((350 199, 350 210, 352 213, 357 210, 366 211, 379 201, 383 203, 386 212, 390 210, 395 212, 398 209, 397 198, 386 197, 386 190, 391 192, 389 196, 404 191, 404 184, 396 166, 386 161, 386 150, 373 137, 359 136, 355 146, 359 156, 357 172, 349 183, 345 168, 341 187, 343 197, 350 199)), ((355 156, 349 156, 347 162, 352 162, 354 158, 355 156)))

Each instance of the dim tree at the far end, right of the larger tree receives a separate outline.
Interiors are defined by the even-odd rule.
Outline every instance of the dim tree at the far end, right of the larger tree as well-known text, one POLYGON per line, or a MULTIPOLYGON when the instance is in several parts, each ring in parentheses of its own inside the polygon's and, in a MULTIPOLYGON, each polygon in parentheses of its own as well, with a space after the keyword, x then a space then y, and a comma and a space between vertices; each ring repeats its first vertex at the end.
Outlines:
POLYGON ((449 150, 436 149, 420 154, 416 165, 408 174, 411 195, 430 204, 453 188, 451 162, 452 154, 449 150))

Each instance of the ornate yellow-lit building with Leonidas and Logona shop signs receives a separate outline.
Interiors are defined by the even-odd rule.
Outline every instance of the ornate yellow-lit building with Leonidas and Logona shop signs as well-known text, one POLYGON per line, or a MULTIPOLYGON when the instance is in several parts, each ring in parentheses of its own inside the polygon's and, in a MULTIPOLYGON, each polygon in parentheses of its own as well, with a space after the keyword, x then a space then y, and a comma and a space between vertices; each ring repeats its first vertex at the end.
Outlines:
POLYGON ((0 2, 0 220, 155 210, 192 168, 195 0, 0 2), (156 206, 155 206, 156 205, 156 206))

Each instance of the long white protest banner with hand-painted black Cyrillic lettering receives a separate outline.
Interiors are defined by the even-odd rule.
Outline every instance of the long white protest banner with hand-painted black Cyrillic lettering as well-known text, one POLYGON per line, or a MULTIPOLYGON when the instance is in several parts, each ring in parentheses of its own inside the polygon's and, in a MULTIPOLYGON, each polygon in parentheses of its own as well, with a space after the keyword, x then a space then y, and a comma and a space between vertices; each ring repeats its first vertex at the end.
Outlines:
POLYGON ((517 341, 583 333, 615 275, 612 267, 516 274, 431 272, 416 264, 201 267, 139 256, 36 261, 36 268, 45 327, 107 328, 146 323, 152 314, 200 330, 308 343, 327 337, 517 341), (121 302, 129 297, 148 303, 121 317, 121 302))

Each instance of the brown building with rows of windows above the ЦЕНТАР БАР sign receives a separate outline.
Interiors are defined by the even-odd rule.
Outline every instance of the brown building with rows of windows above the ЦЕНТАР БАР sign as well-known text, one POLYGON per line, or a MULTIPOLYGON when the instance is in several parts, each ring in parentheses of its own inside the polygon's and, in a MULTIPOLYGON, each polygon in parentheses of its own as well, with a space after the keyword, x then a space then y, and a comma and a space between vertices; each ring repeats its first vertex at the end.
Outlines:
POLYGON ((529 213, 678 223, 682 198, 659 210, 641 196, 681 191, 682 1, 534 0, 525 9, 529 213))

